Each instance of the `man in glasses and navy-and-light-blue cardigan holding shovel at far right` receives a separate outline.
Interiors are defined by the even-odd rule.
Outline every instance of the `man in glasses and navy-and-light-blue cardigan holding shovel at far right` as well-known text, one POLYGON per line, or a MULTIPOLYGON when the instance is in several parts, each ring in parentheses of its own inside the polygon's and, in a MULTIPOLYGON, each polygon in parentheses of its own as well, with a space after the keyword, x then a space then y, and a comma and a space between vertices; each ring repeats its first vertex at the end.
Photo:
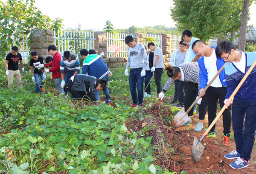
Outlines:
POLYGON ((225 154, 227 159, 236 159, 230 167, 241 169, 249 166, 256 131, 256 52, 237 51, 230 41, 222 41, 217 45, 216 55, 227 62, 225 75, 227 79, 227 95, 224 104, 232 104, 232 123, 236 150, 225 154), (228 98, 238 86, 251 66, 254 66, 247 79, 234 96, 233 102, 228 98), (246 115, 245 121, 244 117, 246 115))

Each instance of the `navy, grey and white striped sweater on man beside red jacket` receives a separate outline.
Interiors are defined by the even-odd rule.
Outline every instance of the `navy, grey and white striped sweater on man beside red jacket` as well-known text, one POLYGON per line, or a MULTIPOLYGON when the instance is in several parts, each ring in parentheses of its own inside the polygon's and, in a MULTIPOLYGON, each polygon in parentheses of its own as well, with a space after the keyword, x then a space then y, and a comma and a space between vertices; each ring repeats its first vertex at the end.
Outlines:
POLYGON ((80 62, 79 62, 79 58, 78 56, 76 56, 75 54, 71 54, 71 59, 68 62, 66 59, 64 59, 64 56, 61 57, 61 74, 64 73, 64 70, 67 71, 77 71, 78 73, 80 72, 80 62))

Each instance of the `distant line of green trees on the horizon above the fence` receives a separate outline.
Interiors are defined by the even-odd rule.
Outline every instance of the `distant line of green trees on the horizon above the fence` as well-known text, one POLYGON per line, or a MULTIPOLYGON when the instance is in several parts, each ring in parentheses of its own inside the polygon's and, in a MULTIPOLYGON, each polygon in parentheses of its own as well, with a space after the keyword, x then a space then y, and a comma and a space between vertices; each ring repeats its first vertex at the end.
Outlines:
POLYGON ((143 28, 137 28, 134 25, 131 26, 129 29, 115 29, 114 32, 116 33, 125 33, 125 34, 131 34, 131 33, 145 33, 145 34, 174 34, 174 35, 180 35, 180 31, 177 30, 177 28, 168 28, 166 25, 157 25, 154 27, 151 26, 145 26, 143 28))

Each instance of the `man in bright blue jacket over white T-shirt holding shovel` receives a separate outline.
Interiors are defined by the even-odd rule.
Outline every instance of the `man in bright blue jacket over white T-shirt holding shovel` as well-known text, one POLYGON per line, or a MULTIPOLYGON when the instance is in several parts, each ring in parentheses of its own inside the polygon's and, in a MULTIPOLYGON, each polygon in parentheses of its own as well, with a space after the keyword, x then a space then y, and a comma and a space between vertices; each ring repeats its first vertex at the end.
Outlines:
MULTIPOLYGON (((203 90, 209 84, 209 81, 215 76, 218 70, 224 65, 224 60, 219 59, 215 54, 215 47, 209 47, 202 41, 197 40, 193 43, 192 49, 198 56, 198 65, 200 68, 200 84, 201 84, 201 96, 206 96, 207 107, 208 107, 208 124, 210 125, 216 117, 218 100, 221 108, 224 106, 225 95, 227 94, 227 85, 225 79, 224 70, 217 76, 217 78, 210 84, 207 91, 204 93, 203 90)), ((231 126, 231 112, 230 107, 225 109, 223 112, 223 145, 230 146, 230 126, 231 126)), ((209 131, 207 138, 215 137, 215 125, 209 131)), ((204 134, 204 132, 203 132, 204 134)), ((201 135, 203 135, 201 134, 201 135)))

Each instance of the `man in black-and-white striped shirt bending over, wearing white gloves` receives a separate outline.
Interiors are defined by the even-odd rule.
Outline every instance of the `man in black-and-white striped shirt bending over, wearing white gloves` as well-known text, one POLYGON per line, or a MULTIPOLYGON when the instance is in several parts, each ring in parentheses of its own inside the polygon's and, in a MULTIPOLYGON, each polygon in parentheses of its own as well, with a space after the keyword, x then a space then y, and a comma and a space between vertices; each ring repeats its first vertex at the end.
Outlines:
MULTIPOLYGON (((159 94, 159 98, 163 100, 166 91, 174 84, 175 80, 186 81, 186 95, 185 95, 185 112, 193 104, 200 91, 200 78, 199 78, 199 67, 196 62, 183 63, 178 67, 166 67, 167 75, 170 77, 163 87, 163 91, 159 94)), ((199 104, 199 121, 203 122, 206 114, 207 102, 206 98, 203 97, 199 104)), ((188 112, 188 116, 193 115, 193 110, 188 112)), ((191 123, 191 119, 185 124, 191 123)), ((184 124, 184 125, 185 125, 184 124)))

